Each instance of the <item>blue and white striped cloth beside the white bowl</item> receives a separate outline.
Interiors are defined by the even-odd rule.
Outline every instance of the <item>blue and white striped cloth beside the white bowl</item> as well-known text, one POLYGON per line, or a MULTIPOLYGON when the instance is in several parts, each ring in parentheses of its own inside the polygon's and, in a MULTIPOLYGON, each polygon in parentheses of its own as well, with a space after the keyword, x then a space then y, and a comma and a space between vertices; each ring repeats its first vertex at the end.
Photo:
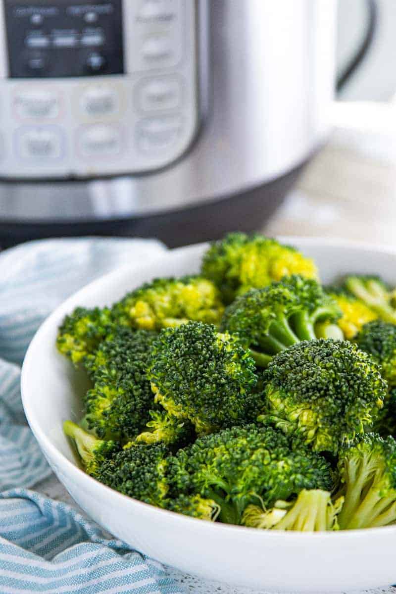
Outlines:
POLYGON ((0 254, 0 594, 179 594, 164 568, 109 539, 69 505, 30 491, 51 471, 26 424, 20 365, 43 318, 80 286, 163 247, 52 239, 0 254))

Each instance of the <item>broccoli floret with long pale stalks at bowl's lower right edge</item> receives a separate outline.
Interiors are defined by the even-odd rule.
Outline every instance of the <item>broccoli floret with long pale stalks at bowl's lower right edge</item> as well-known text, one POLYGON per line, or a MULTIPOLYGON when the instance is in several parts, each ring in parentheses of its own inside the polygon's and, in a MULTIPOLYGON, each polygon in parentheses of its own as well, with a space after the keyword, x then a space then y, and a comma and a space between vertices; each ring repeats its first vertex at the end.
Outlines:
POLYGON ((385 526, 396 522, 396 442, 390 435, 363 435, 340 452, 338 469, 345 501, 341 529, 385 526))

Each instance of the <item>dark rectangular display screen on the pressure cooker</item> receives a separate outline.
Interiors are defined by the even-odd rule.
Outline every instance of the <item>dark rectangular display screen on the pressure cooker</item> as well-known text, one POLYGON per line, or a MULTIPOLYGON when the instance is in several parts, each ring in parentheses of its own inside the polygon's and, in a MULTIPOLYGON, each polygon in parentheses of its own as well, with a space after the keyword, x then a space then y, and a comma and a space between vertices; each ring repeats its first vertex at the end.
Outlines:
POLYGON ((122 74, 122 0, 5 0, 10 78, 122 74))

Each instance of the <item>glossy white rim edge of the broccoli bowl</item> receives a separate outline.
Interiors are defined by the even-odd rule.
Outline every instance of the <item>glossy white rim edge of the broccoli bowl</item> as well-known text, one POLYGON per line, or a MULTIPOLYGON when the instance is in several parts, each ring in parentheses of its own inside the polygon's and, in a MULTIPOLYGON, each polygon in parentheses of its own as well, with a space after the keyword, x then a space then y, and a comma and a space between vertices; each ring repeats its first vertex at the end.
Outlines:
MULTIPOLYGON (((369 242, 358 242, 358 241, 349 241, 347 239, 338 239, 338 238, 320 238, 318 236, 289 236, 289 235, 280 235, 276 236, 278 241, 283 243, 293 245, 293 242, 298 243, 299 245, 305 245, 309 247, 337 247, 337 248, 354 248, 359 249, 362 251, 370 251, 370 252, 380 252, 380 253, 388 253, 390 255, 396 255, 396 247, 389 246, 386 244, 373 244, 369 242)), ((64 469, 65 472, 69 475, 69 477, 75 477, 78 482, 85 482, 85 484, 96 484, 97 489, 102 489, 103 492, 107 492, 110 497, 113 497, 113 501, 116 504, 116 501, 120 501, 122 504, 126 504, 132 506, 138 512, 139 510, 146 510, 150 514, 154 514, 154 517, 157 514, 160 514, 159 517, 168 517, 169 520, 173 523, 186 523, 186 526, 191 525, 195 526, 195 529, 199 530, 216 530, 216 533, 220 536, 221 532, 224 533, 224 536, 230 538, 230 536, 235 535, 237 538, 238 536, 245 535, 248 538, 252 538, 257 541, 261 541, 262 539, 271 539, 272 542, 287 539, 287 542, 297 541, 306 542, 308 539, 343 539, 343 540, 350 540, 350 539, 357 539, 357 538, 364 538, 365 535, 371 536, 379 536, 384 535, 384 530, 387 533, 394 532, 396 535, 396 525, 394 526, 381 526, 381 527, 373 527, 373 528, 366 528, 366 529, 353 529, 353 530, 337 530, 337 531, 324 531, 324 532, 297 532, 297 531, 277 531, 277 530, 257 530, 252 527, 247 526, 239 526, 239 525, 230 525, 230 524, 223 524, 220 522, 205 522, 199 520, 197 518, 185 516, 183 514, 176 513, 174 511, 165 510, 155 505, 144 503, 143 501, 136 500, 128 495, 123 495, 122 493, 116 491, 115 489, 110 488, 107 485, 103 485, 101 482, 94 479, 92 476, 87 475, 83 469, 77 466, 77 464, 72 463, 58 448, 52 443, 50 437, 48 437, 45 431, 42 430, 39 424, 36 424, 34 420, 34 407, 33 407, 33 399, 30 399, 30 388, 29 388, 29 376, 30 376, 30 369, 34 367, 34 352, 36 349, 36 343, 39 342, 42 334, 45 334, 47 328, 53 326, 56 321, 58 324, 58 318, 61 315, 65 315, 65 312, 68 310, 69 303, 73 303, 75 299, 78 299, 78 296, 83 295, 87 290, 93 290, 94 287, 97 285, 98 287, 102 285, 103 282, 109 281, 112 277, 122 276, 122 274, 131 273, 131 270, 145 270, 145 268, 150 268, 153 264, 159 263, 161 260, 167 260, 169 255, 179 253, 180 251, 186 251, 190 249, 192 252, 197 251, 199 248, 203 249, 205 245, 208 245, 207 242, 193 244, 189 246, 185 246, 182 248, 175 248, 170 249, 169 251, 165 252, 164 254, 160 254, 158 257, 151 258, 147 264, 140 264, 138 266, 122 266, 118 267, 115 270, 100 276, 98 279, 93 280, 92 282, 84 285, 79 289, 77 292, 72 293, 65 301, 63 301, 58 307, 56 307, 47 317, 46 319, 40 324, 39 328, 37 329, 36 333, 31 340, 26 355, 24 357, 22 369, 21 369, 21 399, 23 403, 24 412, 26 414, 26 418, 28 424, 30 425, 31 431, 33 432, 34 436, 36 437, 37 441, 39 442, 40 448, 41 444, 45 445, 47 451, 49 451, 50 458, 55 461, 59 467, 64 469), (110 495, 111 494, 111 495, 110 495)), ((60 479, 59 479, 60 480, 60 479)), ((62 482, 62 481, 61 481, 62 482)), ((89 514, 88 514, 89 515, 89 514)))

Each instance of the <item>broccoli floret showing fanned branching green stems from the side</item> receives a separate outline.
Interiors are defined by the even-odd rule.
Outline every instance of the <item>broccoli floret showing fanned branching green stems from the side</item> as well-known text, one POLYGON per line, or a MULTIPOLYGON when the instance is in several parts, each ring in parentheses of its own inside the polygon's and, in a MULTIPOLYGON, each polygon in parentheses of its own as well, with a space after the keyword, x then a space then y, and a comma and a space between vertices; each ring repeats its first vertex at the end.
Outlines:
POLYGON ((265 367, 276 353, 300 340, 321 337, 317 333, 343 339, 333 324, 340 315, 315 280, 291 276, 237 297, 226 308, 220 330, 237 334, 256 364, 265 367))

